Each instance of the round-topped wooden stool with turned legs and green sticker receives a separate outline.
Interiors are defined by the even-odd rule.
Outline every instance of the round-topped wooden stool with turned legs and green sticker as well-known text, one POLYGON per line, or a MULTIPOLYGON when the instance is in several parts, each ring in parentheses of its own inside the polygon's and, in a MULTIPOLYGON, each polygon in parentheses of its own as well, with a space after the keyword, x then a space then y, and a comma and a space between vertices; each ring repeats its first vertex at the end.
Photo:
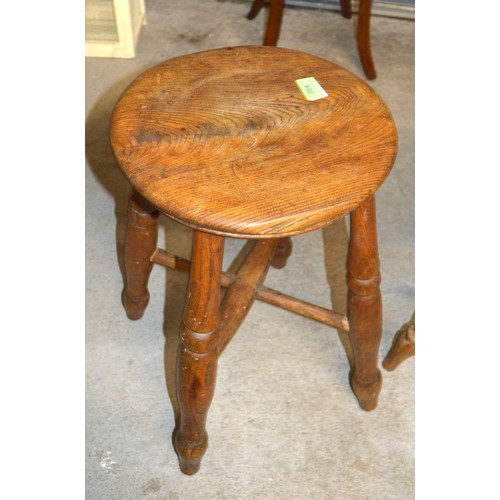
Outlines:
MULTIPOLYGON (((361 407, 381 388, 382 327, 373 194, 396 154, 391 113, 360 78, 318 57, 276 47, 228 47, 176 57, 140 75, 111 119, 111 142, 133 187, 125 241, 128 316, 148 303, 153 263, 190 272, 180 328, 175 445, 194 474, 217 360, 255 298, 349 330, 361 407), (308 101, 314 76, 328 97, 308 101), (194 229, 191 262, 156 248, 157 218, 194 229), (347 317, 263 286, 289 237, 350 214, 347 317), (255 239, 238 273, 222 272, 224 239, 255 239), (228 287, 220 302, 220 287, 228 287)), ((265 368, 265 367, 263 367, 265 368)))

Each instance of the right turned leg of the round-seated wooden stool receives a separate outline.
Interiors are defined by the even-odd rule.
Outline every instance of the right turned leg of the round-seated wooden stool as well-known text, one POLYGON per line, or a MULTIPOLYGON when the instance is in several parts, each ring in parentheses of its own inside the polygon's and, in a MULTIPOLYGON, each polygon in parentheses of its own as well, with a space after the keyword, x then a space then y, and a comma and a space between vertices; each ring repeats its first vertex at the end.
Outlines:
POLYGON ((382 386, 378 350, 382 335, 382 297, 377 249, 375 199, 350 215, 347 257, 347 316, 354 353, 351 385, 361 408, 373 410, 382 386))

